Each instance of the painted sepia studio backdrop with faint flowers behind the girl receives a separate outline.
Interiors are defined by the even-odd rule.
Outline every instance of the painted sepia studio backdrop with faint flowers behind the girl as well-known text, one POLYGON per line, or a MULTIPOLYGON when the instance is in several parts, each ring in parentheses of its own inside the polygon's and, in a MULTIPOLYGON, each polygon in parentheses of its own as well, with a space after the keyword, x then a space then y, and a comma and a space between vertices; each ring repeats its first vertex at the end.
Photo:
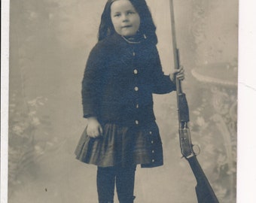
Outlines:
MULTIPOLYGON (((148 0, 163 71, 173 67, 168 0, 148 0)), ((96 166, 75 159, 81 80, 105 0, 11 0, 9 203, 96 203, 96 166)), ((174 0, 197 156, 220 202, 236 201, 238 1, 174 0)), ((181 159, 175 92, 154 95, 165 164, 137 168, 136 202, 196 203, 181 159)))

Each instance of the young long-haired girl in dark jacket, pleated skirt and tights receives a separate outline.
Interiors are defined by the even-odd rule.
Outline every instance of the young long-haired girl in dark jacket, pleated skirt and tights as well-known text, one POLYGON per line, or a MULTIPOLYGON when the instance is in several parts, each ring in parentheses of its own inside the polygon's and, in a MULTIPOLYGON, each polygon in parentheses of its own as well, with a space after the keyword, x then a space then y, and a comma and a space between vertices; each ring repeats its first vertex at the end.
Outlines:
MULTIPOLYGON (((136 165, 163 165, 163 149, 153 112, 152 93, 175 90, 164 75, 157 35, 145 0, 108 0, 99 41, 87 60, 82 100, 87 127, 75 150, 81 162, 97 165, 100 203, 132 203, 136 165)), ((174 76, 175 75, 175 76, 174 76)))

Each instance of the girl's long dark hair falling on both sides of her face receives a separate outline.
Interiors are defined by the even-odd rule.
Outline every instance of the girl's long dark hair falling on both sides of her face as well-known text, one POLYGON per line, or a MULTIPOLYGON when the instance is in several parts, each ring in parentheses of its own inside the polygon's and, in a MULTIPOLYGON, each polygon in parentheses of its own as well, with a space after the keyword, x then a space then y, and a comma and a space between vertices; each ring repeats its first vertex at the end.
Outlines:
MULTIPOLYGON (((108 0, 102 13, 101 23, 99 25, 98 40, 114 34, 114 26, 111 22, 111 5, 117 0, 108 0)), ((139 32, 145 35, 149 41, 157 44, 156 26, 154 25, 151 12, 145 0, 129 0, 139 14, 141 23, 139 32)))

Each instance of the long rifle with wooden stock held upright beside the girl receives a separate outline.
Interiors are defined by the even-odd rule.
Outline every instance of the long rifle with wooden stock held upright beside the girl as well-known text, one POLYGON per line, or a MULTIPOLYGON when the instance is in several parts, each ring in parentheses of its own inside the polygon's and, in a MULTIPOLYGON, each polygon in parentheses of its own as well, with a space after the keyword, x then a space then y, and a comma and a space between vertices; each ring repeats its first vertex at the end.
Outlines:
MULTIPOLYGON (((179 68, 179 52, 176 45, 176 35, 175 35, 175 20, 174 20, 174 9, 173 2, 169 0, 170 3, 170 14, 171 14, 171 24, 172 24, 172 46, 173 46, 173 58, 175 69, 179 68)), ((187 159, 190 164, 194 176, 197 179, 197 201, 198 203, 218 203, 218 198, 212 189, 200 163, 197 160, 197 154, 193 150, 193 144, 190 137, 190 129, 188 127, 189 122, 189 110, 187 105, 187 99, 184 92, 181 89, 181 80, 175 78, 176 83, 176 93, 177 93, 177 105, 178 105, 178 121, 179 121, 179 140, 181 147, 182 156, 187 159)))

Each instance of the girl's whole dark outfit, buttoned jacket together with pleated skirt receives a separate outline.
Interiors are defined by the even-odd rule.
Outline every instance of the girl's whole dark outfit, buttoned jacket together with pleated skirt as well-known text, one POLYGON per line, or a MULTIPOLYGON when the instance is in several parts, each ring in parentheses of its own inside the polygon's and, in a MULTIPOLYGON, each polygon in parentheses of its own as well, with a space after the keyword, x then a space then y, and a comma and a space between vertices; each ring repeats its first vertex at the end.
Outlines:
POLYGON ((163 165, 152 94, 172 90, 157 47, 147 39, 130 44, 114 34, 99 41, 87 60, 82 102, 84 117, 96 117, 103 135, 90 138, 84 130, 77 159, 100 167, 163 165))

